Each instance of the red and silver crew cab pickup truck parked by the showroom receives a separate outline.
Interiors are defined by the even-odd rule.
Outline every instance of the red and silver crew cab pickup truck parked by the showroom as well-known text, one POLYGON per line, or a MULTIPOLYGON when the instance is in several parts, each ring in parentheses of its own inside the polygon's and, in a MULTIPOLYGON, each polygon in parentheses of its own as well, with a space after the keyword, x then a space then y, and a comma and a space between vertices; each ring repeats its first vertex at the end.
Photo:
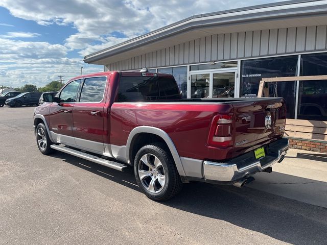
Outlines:
POLYGON ((123 171, 150 199, 183 183, 243 186, 288 150, 283 98, 182 99, 173 76, 110 71, 68 81, 34 110, 42 154, 65 152, 123 171))

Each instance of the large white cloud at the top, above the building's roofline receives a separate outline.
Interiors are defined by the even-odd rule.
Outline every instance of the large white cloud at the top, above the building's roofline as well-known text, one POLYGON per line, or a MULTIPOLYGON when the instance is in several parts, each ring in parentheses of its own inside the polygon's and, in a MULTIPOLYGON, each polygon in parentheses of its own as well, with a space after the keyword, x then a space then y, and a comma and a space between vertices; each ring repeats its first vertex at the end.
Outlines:
POLYGON ((73 24, 77 33, 65 40, 66 46, 70 50, 84 50, 81 53, 85 54, 92 49, 90 45, 94 41, 111 45, 195 14, 268 2, 271 1, 44 0, 40 4, 34 0, 2 0, 0 6, 9 9, 16 17, 42 25, 73 24), (112 39, 112 32, 120 32, 126 37, 112 39))

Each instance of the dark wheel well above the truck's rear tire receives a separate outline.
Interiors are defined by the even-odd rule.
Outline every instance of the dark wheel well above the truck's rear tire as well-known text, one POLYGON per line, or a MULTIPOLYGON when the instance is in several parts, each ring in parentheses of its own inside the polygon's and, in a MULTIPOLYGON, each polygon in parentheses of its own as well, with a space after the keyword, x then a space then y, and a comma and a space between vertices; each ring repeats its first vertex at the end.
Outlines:
POLYGON ((136 134, 131 141, 131 150, 129 153, 129 160, 131 165, 134 164, 134 158, 139 149, 141 149, 144 145, 155 144, 155 143, 161 143, 162 145, 165 146, 165 150, 167 150, 170 153, 167 143, 160 136, 150 133, 136 134))

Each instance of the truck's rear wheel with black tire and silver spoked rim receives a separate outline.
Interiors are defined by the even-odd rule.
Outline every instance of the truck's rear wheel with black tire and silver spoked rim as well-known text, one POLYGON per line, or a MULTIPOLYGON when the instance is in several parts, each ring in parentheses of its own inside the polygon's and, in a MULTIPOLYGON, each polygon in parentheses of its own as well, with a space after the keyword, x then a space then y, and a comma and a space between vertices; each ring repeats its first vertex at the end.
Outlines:
POLYGON ((154 201, 166 201, 171 199, 181 191, 183 186, 173 157, 170 152, 166 150, 165 145, 161 143, 148 144, 139 149, 134 160, 134 175, 142 192, 145 193, 149 199, 154 201), (158 167, 154 166, 156 158, 160 161, 160 163, 157 162, 158 167), (145 164, 142 159, 147 159, 148 164, 145 164), (153 169, 148 165, 153 165, 153 169), (142 174, 140 171, 146 174, 142 174), (143 175, 142 180, 139 174, 143 175), (165 177, 165 182, 162 181, 162 177, 165 177), (164 183, 164 186, 161 185, 159 179, 161 183, 164 183), (152 183, 152 185, 150 183, 152 183), (150 185, 153 188, 150 188, 150 185))

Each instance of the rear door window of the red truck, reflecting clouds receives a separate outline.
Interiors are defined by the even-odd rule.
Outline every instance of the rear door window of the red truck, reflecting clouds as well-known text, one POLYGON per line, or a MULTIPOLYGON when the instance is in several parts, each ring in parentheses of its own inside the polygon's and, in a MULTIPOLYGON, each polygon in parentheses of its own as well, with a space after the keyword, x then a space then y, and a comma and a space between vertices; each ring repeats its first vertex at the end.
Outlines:
POLYGON ((107 78, 86 78, 83 84, 80 102, 101 102, 107 78))

